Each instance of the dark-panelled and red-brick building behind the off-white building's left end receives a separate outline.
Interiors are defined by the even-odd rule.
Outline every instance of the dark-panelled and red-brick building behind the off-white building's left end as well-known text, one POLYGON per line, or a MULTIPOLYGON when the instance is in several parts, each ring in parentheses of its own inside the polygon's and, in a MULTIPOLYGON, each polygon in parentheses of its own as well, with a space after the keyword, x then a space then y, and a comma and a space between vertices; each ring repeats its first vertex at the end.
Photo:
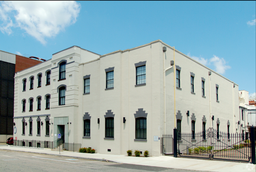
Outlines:
POLYGON ((13 103, 15 72, 41 61, 0 50, 0 142, 13 137, 13 103))

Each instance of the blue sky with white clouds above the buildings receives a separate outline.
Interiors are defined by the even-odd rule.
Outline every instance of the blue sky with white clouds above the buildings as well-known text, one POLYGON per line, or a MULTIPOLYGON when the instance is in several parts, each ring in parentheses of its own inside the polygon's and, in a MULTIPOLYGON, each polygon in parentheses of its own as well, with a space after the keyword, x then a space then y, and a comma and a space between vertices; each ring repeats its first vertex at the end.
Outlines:
POLYGON ((76 45, 103 55, 157 39, 255 96, 255 1, 0 2, 0 50, 42 59, 76 45))

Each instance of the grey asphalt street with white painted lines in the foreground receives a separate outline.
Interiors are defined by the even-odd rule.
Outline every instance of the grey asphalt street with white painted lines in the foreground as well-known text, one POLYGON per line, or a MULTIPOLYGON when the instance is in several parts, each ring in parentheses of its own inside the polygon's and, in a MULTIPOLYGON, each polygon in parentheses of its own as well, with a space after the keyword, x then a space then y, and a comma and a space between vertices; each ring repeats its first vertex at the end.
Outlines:
MULTIPOLYGON (((87 159, 74 159, 69 157, 44 155, 28 152, 0 150, 0 172, 195 172, 176 168, 163 168, 155 166, 131 165, 93 161, 87 159)), ((199 172, 199 171, 198 171, 199 172)), ((202 171, 200 171, 202 172, 202 171)))

